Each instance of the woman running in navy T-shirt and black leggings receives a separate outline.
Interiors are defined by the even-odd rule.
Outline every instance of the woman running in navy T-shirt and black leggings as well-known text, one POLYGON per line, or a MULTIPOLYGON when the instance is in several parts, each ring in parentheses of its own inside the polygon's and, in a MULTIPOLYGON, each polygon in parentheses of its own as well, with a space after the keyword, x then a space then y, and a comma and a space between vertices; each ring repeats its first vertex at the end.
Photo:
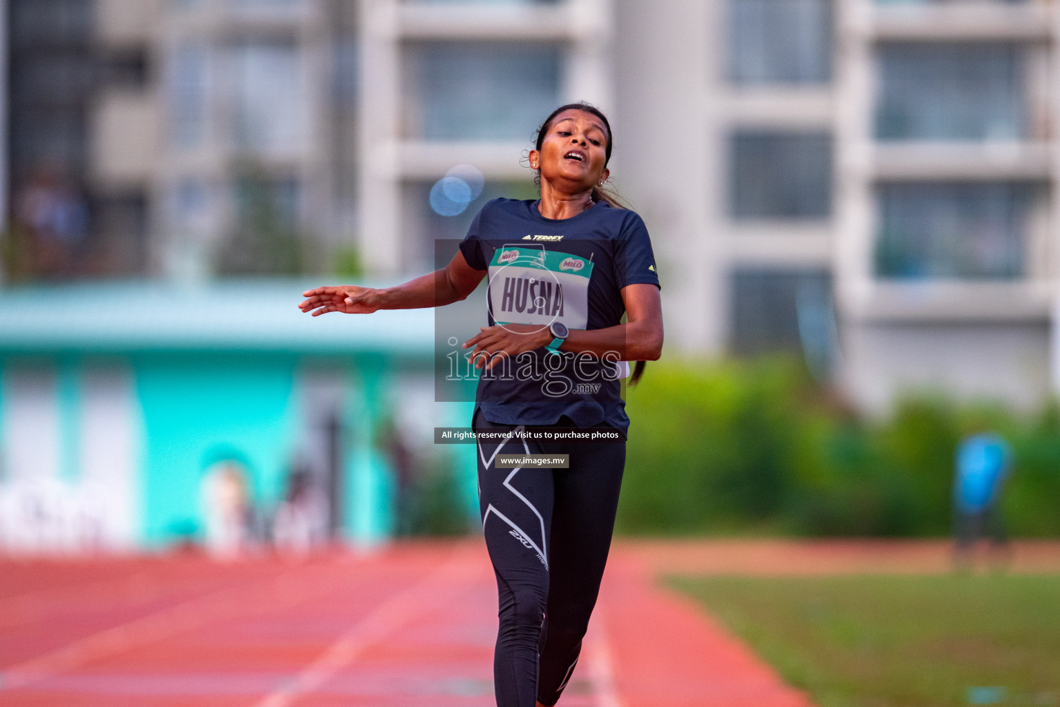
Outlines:
POLYGON ((479 506, 499 594, 498 707, 554 705, 573 673, 625 463, 619 371, 662 349, 648 230, 602 191, 611 152, 600 110, 561 106, 529 155, 541 199, 488 202, 449 264, 430 275, 384 289, 318 287, 299 305, 313 316, 442 306, 489 273, 490 325, 463 347, 482 369, 472 426, 481 436, 479 506), (545 426, 610 431, 618 443, 518 435, 545 426), (498 453, 567 455, 568 464, 498 467, 498 453))

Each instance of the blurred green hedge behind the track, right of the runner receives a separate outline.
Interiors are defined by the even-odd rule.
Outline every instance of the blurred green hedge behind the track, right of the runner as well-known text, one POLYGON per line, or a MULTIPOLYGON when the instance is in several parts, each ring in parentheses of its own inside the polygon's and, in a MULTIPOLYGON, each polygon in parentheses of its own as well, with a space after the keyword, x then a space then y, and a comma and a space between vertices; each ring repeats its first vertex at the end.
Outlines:
POLYGON ((789 359, 657 363, 628 391, 618 530, 651 534, 944 535, 954 449, 990 427, 1012 445, 1003 513, 1060 535, 1060 409, 907 397, 869 421, 789 359))

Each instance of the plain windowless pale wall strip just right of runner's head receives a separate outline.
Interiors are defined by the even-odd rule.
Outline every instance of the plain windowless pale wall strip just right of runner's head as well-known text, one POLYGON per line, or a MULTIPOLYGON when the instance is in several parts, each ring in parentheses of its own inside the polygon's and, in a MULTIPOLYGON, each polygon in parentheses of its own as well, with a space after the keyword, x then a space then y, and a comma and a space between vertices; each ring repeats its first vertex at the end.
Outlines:
POLYGON ((668 354, 718 353, 725 339, 718 4, 616 4, 612 174, 652 235, 668 354))

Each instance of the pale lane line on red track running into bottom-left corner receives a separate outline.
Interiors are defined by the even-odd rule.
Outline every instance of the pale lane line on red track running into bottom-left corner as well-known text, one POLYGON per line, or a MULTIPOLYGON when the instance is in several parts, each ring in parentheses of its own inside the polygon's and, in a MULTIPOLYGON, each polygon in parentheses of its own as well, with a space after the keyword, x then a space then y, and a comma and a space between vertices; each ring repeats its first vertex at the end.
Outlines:
POLYGON ((247 587, 246 584, 227 587, 74 640, 0 670, 0 692, 28 687, 91 660, 154 643, 211 621, 245 614, 248 609, 272 611, 304 601, 310 594, 317 594, 305 591, 305 569, 300 568, 275 578, 265 587, 247 587))

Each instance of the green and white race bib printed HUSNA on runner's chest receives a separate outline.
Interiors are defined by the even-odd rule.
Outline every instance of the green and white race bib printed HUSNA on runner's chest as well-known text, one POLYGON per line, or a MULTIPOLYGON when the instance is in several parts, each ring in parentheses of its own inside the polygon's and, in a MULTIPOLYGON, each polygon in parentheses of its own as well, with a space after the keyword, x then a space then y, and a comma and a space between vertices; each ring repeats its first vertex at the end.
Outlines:
POLYGON ((540 248, 498 248, 490 263, 490 312, 501 324, 553 321, 585 329, 593 262, 540 248))

